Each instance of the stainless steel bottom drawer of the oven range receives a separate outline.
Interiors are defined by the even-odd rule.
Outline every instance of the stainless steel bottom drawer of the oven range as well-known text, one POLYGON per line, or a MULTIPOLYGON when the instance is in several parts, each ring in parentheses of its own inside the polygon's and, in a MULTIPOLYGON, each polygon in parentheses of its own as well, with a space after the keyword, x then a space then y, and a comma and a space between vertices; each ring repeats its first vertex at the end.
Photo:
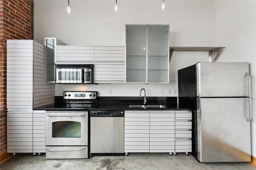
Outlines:
POLYGON ((88 158, 88 146, 46 146, 46 159, 88 158))

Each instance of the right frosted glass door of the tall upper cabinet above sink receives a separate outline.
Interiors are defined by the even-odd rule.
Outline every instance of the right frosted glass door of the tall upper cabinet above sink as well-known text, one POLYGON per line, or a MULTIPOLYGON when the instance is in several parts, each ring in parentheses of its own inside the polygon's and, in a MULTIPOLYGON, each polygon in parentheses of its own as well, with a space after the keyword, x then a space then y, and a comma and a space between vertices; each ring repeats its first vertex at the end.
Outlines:
POLYGON ((169 26, 148 26, 148 82, 168 83, 169 26))

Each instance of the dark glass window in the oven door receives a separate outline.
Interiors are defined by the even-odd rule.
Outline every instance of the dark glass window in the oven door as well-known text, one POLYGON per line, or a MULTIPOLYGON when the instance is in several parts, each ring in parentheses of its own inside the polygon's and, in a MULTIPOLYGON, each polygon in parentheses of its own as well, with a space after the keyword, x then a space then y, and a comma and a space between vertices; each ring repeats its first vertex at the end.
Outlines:
POLYGON ((59 121, 52 123, 53 138, 80 138, 81 123, 74 121, 59 121))

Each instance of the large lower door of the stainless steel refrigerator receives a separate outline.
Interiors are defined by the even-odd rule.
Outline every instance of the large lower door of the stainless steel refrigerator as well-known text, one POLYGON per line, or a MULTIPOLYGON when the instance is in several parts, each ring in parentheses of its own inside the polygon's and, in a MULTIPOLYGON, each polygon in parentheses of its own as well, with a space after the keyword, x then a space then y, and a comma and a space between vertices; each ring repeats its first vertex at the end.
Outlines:
POLYGON ((248 98, 197 98, 198 160, 250 162, 248 98))

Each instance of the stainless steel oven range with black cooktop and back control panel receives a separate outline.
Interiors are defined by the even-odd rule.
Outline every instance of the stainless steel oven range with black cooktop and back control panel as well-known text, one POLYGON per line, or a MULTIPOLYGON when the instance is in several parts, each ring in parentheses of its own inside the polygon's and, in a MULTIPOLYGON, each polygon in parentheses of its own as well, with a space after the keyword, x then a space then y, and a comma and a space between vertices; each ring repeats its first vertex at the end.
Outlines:
POLYGON ((97 92, 65 91, 63 99, 46 109, 46 159, 88 158, 88 108, 97 92))

